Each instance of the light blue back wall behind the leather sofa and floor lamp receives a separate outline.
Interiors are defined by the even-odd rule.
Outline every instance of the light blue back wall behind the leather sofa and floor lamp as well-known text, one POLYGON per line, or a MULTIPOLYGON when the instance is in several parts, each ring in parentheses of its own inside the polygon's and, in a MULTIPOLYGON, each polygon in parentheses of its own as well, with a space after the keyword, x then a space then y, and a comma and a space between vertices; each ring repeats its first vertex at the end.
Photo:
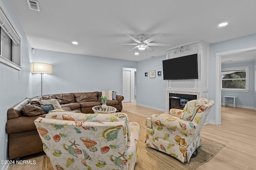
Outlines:
MULTIPOLYGON (((122 68, 137 62, 35 49, 32 62, 52 64, 43 74, 43 94, 114 90, 122 95, 122 68)), ((41 94, 41 75, 32 74, 33 89, 41 94)))

